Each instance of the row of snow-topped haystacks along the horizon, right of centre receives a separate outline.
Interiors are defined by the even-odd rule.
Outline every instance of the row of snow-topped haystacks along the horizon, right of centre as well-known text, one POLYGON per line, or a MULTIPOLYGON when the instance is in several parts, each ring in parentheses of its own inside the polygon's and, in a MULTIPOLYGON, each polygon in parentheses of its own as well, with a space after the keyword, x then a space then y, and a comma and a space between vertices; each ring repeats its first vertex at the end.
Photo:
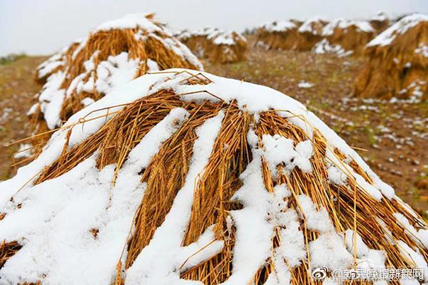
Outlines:
POLYGON ((361 53, 364 46, 387 26, 389 20, 379 14, 370 21, 335 19, 320 16, 299 22, 274 21, 257 28, 257 44, 269 49, 294 49, 347 56, 361 53))

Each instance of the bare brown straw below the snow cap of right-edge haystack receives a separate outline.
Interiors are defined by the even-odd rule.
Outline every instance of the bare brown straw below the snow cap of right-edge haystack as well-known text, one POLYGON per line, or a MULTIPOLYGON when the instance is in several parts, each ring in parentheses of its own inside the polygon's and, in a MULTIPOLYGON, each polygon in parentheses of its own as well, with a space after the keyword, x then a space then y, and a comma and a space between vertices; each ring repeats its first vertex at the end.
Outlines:
MULTIPOLYGON (((422 21, 406 33, 397 35, 387 46, 367 47, 369 61, 355 81, 355 95, 363 98, 410 98, 414 88, 409 86, 428 78, 428 58, 422 53, 415 53, 420 45, 426 46, 427 43, 428 22, 422 21)), ((427 83, 420 88, 422 100, 428 98, 427 83)))

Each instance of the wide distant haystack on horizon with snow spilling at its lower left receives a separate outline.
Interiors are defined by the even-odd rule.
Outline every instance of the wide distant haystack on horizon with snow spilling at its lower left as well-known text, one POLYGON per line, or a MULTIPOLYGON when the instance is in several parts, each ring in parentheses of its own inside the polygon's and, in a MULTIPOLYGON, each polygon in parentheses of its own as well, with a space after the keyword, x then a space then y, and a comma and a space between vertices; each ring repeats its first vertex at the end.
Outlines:
POLYGON ((322 28, 322 41, 315 44, 315 53, 336 53, 338 56, 360 54, 376 31, 368 21, 335 19, 322 28))

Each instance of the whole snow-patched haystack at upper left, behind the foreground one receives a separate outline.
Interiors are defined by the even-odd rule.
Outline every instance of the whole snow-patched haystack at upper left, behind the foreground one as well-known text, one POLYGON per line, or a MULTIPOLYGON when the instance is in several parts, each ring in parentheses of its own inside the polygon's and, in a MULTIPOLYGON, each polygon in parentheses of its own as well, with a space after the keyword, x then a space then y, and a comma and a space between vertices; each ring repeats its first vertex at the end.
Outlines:
MULTIPOLYGON (((153 14, 133 14, 98 26, 39 66, 44 84, 29 112, 34 133, 61 125, 81 108, 148 71, 202 69, 198 58, 153 14)), ((49 134, 37 137, 44 142, 49 134)))

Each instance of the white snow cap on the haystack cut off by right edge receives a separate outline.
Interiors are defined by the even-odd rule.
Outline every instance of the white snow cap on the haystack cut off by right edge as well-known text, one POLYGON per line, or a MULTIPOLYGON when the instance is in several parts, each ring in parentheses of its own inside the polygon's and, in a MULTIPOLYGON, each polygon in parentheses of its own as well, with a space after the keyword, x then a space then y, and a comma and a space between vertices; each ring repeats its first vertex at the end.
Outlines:
POLYGON ((410 28, 417 26, 417 24, 428 21, 428 16, 424 14, 412 14, 405 16, 403 19, 397 21, 394 25, 387 28, 380 33, 376 38, 367 43, 367 46, 388 46, 391 44, 398 35, 406 33, 410 28))

